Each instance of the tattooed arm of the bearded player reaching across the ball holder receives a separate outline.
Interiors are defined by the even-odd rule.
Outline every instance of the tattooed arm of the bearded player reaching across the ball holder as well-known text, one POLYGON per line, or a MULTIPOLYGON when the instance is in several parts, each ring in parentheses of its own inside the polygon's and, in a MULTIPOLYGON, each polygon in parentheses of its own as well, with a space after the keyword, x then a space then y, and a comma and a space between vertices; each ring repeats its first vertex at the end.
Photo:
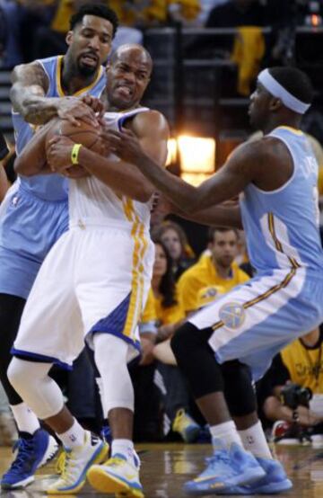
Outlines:
POLYGON ((39 62, 22 64, 13 69, 13 86, 10 98, 13 111, 20 112, 27 122, 42 125, 55 117, 78 124, 83 120, 96 126, 96 102, 83 102, 76 97, 46 97, 48 92, 48 76, 39 62), (93 104, 93 105, 92 105, 93 104))

